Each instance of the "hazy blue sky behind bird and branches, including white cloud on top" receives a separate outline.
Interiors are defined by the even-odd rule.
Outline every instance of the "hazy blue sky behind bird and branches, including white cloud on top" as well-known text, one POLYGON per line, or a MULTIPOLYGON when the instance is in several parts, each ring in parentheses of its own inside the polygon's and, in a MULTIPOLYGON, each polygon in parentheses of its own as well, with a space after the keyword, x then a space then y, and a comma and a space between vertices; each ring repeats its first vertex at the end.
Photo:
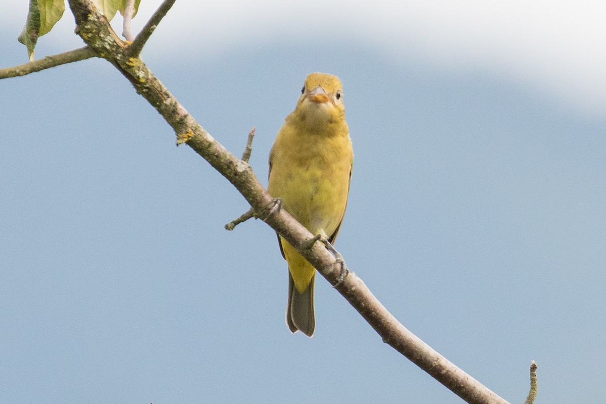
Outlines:
MULTIPOLYGON (((233 153, 256 126, 264 181, 305 76, 338 75, 351 270, 510 402, 531 360, 536 403, 604 402, 604 6, 293 4, 177 2, 144 61, 233 153)), ((25 10, 0 18, 0 64, 25 62, 25 10)), ((66 14, 36 56, 79 46, 66 14)), ((461 402, 324 279, 291 335, 275 235, 223 230, 244 199, 107 62, 0 91, 0 400, 461 402)))

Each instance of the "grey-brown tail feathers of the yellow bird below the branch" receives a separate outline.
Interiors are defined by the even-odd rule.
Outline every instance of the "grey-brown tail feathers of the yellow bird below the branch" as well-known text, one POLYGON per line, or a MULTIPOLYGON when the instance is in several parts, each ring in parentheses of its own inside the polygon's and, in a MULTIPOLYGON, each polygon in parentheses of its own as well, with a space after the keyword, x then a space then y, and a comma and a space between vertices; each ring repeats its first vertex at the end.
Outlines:
POLYGON ((316 328, 316 316, 313 310, 313 285, 316 277, 314 271, 307 289, 299 292, 295 280, 288 271, 288 303, 286 306, 286 323, 291 333, 301 331, 308 337, 313 336, 316 328))

